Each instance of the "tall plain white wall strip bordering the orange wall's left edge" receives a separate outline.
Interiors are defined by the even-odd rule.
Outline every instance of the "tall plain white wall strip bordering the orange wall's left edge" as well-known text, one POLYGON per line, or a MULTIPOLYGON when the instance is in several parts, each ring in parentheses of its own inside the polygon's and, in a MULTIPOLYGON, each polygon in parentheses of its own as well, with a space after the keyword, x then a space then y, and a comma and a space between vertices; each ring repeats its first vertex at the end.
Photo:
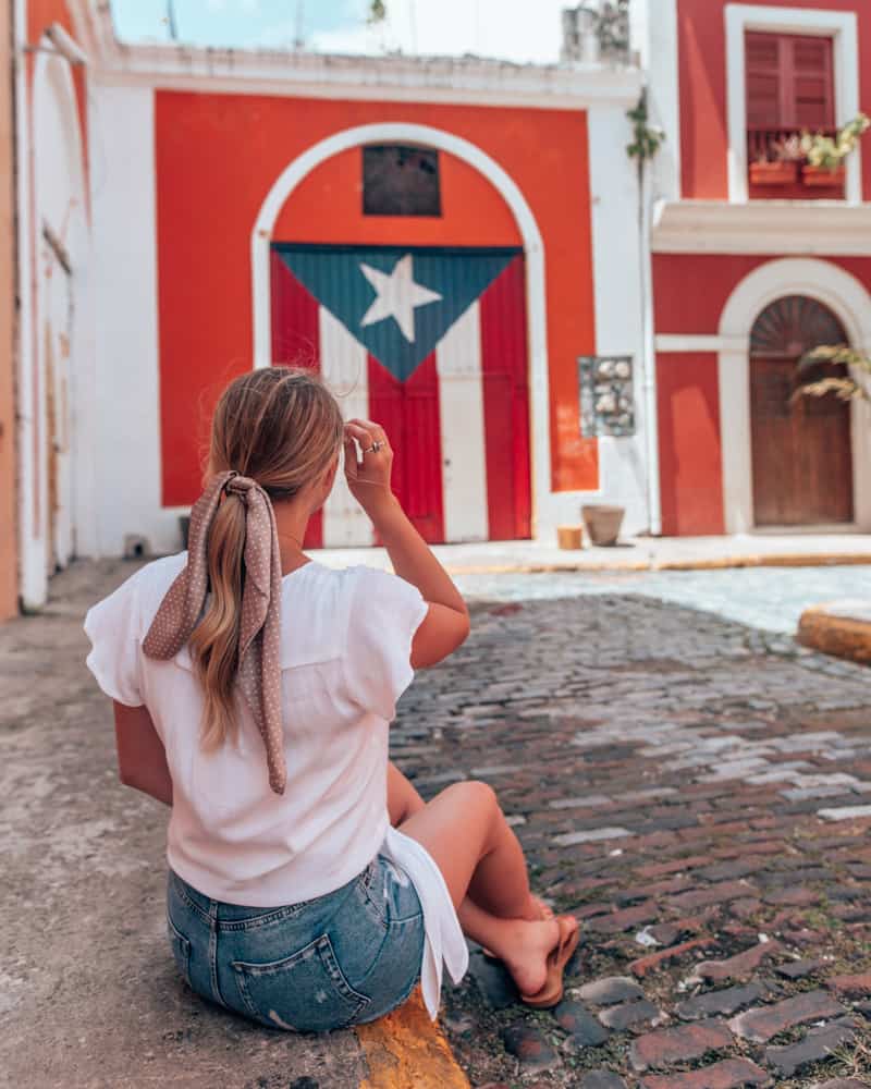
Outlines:
POLYGON ((154 91, 96 84, 90 96, 99 510, 93 552, 127 534, 180 548, 161 507, 154 91))

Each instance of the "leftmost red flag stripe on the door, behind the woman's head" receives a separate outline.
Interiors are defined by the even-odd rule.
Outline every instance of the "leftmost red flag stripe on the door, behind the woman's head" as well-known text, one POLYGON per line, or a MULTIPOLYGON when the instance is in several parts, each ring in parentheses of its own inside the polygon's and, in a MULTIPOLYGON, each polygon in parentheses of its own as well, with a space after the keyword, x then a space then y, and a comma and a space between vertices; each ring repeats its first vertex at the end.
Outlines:
MULTIPOLYGON (((318 301, 291 272, 275 250, 271 259, 272 278, 272 363, 320 369, 318 301)), ((323 547, 323 512, 316 511, 308 521, 303 540, 305 548, 323 547)))

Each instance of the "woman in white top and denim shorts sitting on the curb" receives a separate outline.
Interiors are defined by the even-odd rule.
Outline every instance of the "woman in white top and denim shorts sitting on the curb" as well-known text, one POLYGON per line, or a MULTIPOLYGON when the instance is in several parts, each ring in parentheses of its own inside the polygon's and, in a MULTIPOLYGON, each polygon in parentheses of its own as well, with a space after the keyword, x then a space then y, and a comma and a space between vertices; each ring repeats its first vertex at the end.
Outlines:
POLYGON ((121 779, 172 807, 179 969, 204 998, 284 1029, 372 1020, 418 981, 436 1017, 442 964, 455 981, 468 964, 462 931, 524 1002, 555 1005, 578 941, 574 918, 531 895, 487 784, 424 804, 389 763, 413 671, 469 629, 391 491, 392 458, 383 430, 343 424, 311 371, 244 375, 214 413, 188 551, 146 564, 85 621, 121 779), (343 444, 395 575, 303 552, 343 444))

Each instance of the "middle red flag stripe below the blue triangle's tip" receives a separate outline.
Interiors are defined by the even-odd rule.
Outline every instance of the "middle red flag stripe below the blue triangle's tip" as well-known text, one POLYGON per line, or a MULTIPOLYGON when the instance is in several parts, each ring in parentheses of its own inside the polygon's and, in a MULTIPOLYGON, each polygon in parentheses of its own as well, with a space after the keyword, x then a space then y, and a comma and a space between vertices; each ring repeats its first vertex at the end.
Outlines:
POLYGON ((369 415, 394 450, 393 490, 418 533, 430 544, 444 540, 442 444, 436 354, 405 382, 369 356, 369 415))

